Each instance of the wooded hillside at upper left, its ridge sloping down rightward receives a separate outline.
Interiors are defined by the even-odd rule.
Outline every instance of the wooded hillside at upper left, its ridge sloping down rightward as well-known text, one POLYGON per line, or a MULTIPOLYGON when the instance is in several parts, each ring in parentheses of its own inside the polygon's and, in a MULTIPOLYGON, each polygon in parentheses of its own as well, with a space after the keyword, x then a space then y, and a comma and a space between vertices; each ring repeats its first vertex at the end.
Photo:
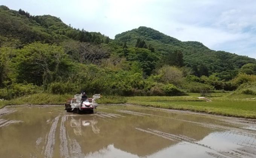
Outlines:
POLYGON ((14 11, 6 6, 0 6, 0 24, 0 45, 11 42, 12 46, 22 47, 35 41, 53 44, 65 39, 100 44, 107 38, 101 33, 73 29, 51 15, 32 16, 21 9, 14 11))

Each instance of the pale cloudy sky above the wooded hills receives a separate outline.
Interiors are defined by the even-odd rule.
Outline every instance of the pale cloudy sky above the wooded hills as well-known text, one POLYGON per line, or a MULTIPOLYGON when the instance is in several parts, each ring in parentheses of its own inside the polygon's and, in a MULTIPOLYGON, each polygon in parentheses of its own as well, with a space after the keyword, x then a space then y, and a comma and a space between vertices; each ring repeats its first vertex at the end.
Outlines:
POLYGON ((110 38, 146 26, 181 41, 256 58, 256 0, 0 0, 0 5, 50 14, 110 38))

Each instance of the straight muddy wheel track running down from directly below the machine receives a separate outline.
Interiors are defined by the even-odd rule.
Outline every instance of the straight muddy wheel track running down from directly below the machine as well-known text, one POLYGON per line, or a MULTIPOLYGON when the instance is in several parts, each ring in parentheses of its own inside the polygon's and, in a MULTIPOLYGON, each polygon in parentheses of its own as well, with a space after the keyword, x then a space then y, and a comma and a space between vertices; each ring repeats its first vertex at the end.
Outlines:
POLYGON ((64 123, 67 120, 67 115, 61 117, 61 126, 59 132, 59 139, 61 140, 61 144, 59 146, 59 153, 62 158, 69 158, 69 149, 67 147, 67 136, 66 136, 66 128, 64 123))

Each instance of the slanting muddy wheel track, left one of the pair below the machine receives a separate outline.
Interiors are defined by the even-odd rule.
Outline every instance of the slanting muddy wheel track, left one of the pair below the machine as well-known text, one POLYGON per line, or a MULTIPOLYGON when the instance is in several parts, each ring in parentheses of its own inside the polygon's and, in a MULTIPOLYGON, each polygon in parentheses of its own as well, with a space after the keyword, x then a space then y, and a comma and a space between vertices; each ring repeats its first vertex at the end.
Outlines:
POLYGON ((60 115, 55 117, 55 119, 53 120, 52 126, 50 128, 50 132, 48 134, 47 144, 44 151, 44 155, 46 158, 52 158, 53 156, 53 149, 55 145, 55 132, 56 132, 59 117, 60 115))

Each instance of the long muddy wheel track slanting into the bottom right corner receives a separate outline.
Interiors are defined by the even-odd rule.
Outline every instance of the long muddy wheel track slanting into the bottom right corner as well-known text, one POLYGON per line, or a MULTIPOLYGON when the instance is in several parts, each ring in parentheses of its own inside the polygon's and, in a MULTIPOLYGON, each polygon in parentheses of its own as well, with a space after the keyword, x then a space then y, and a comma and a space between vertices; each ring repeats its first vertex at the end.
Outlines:
POLYGON ((215 158, 227 158, 226 156, 231 158, 245 158, 245 157, 255 157, 255 156, 252 156, 251 154, 256 155, 255 149, 253 150, 252 148, 251 150, 248 150, 247 147, 244 147, 244 148, 239 148, 238 150, 240 151, 232 150, 232 152, 225 152, 218 149, 214 149, 213 147, 207 146, 205 144, 197 143, 195 139, 187 137, 185 135, 175 135, 175 134, 157 131, 149 128, 148 129, 135 128, 135 129, 142 132, 149 133, 149 134, 157 135, 158 137, 162 137, 171 141, 177 141, 177 142, 185 141, 187 143, 196 144, 198 146, 205 147, 207 149, 213 150, 213 152, 206 152, 206 153, 215 158))

